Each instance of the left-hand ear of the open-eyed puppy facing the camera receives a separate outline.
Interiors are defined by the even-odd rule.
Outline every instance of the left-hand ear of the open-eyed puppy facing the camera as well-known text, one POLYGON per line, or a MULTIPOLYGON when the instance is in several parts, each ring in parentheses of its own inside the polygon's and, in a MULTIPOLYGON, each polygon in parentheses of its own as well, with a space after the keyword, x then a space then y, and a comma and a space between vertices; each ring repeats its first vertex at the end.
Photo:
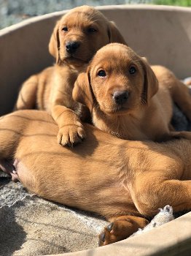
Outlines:
POLYGON ((72 91, 72 97, 74 101, 82 103, 87 106, 90 112, 93 110, 93 95, 90 88, 89 72, 82 72, 79 74, 76 82, 74 83, 74 89, 72 91))

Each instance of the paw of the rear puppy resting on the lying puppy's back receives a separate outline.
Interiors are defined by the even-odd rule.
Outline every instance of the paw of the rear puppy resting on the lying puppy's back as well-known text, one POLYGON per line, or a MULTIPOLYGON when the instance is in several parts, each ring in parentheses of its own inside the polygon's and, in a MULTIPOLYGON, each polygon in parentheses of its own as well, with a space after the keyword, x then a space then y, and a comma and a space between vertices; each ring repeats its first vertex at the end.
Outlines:
POLYGON ((86 137, 82 124, 66 124, 59 129, 57 138, 62 146, 74 146, 86 137))

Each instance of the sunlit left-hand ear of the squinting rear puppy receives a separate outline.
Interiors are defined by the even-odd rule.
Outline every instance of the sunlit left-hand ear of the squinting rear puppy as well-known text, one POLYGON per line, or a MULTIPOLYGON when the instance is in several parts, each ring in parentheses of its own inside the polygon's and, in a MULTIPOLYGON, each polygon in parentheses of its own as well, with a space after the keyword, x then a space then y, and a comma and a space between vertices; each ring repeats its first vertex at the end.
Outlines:
POLYGON ((55 28, 52 32, 49 42, 49 52, 50 54, 55 57, 56 63, 59 64, 60 59, 60 39, 59 39, 59 21, 56 23, 55 28))

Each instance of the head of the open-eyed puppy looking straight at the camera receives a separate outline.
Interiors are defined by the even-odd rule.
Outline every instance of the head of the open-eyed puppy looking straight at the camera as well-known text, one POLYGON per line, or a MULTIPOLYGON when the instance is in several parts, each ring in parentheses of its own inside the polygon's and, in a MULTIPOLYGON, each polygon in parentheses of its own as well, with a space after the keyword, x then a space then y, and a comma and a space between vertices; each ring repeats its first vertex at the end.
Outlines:
POLYGON ((109 115, 122 115, 149 105, 157 89, 157 78, 146 59, 126 45, 113 43, 98 50, 87 72, 79 75, 73 98, 90 111, 99 108, 109 115))

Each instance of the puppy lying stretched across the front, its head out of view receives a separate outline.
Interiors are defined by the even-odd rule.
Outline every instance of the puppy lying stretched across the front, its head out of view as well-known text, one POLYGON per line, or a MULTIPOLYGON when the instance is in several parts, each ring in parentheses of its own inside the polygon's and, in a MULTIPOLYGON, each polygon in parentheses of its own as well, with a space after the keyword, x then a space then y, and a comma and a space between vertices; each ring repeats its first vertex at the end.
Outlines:
MULTIPOLYGON (((84 143, 61 147, 47 112, 11 113, 0 119, 0 161, 16 159, 9 172, 31 192, 106 217, 111 223, 100 245, 143 228, 158 208, 191 208, 190 140, 120 140, 90 124, 85 129, 84 143)), ((190 132, 182 135, 191 139, 190 132)))

